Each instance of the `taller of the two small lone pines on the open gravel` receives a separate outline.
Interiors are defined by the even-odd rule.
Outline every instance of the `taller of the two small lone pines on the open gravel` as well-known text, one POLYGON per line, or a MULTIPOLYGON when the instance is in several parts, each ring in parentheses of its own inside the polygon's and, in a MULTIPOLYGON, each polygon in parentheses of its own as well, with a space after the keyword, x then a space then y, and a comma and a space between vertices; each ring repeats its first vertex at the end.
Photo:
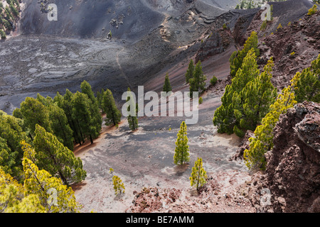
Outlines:
POLYGON ((184 162, 189 162, 189 146, 187 137, 187 126, 183 121, 180 126, 180 131, 178 132, 178 138, 176 140, 176 149, 174 154, 174 164, 183 165, 184 162))

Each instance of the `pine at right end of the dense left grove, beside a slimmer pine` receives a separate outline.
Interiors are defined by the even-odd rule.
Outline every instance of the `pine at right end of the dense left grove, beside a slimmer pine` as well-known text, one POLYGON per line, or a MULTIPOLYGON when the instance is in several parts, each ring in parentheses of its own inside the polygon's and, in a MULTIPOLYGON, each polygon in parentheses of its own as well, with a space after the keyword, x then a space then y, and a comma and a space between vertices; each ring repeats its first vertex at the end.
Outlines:
POLYGON ((117 109, 117 106, 115 104, 112 92, 110 89, 107 89, 102 94, 102 109, 106 114, 106 120, 105 124, 109 126, 113 123, 114 126, 117 126, 117 124, 121 121, 121 112, 117 109))

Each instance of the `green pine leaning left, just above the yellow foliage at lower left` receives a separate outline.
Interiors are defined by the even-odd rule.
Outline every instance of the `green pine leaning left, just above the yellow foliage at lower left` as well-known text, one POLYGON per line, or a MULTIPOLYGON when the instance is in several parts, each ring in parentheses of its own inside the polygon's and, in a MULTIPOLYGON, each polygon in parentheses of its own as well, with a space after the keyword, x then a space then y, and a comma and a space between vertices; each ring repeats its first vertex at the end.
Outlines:
POLYGON ((63 184, 70 185, 85 179, 86 172, 82 169, 80 157, 76 158, 55 135, 37 125, 33 144, 36 151, 36 165, 48 171, 50 175, 60 177, 63 184))

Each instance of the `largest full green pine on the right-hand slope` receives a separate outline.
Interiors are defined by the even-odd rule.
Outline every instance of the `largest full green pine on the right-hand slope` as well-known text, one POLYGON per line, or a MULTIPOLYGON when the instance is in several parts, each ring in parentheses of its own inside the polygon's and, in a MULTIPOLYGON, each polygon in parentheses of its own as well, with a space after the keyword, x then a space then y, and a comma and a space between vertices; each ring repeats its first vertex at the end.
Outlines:
POLYGON ((252 48, 232 83, 225 87, 222 105, 213 117, 218 133, 236 133, 243 136, 245 130, 255 130, 269 111, 269 106, 277 95, 270 82, 273 62, 270 60, 264 68, 265 71, 260 74, 256 59, 255 50, 252 48))

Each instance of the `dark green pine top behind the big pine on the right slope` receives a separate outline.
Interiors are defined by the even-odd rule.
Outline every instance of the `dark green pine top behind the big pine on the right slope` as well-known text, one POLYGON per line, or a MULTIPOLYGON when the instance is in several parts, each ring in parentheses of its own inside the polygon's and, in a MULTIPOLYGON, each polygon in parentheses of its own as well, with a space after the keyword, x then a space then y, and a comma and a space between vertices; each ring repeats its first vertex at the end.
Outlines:
POLYGON ((243 49, 233 52, 229 60, 231 77, 235 77, 235 74, 237 74, 238 70, 242 66, 245 56, 247 56, 247 52, 249 52, 252 48, 255 51, 255 55, 259 57, 260 50, 257 48, 257 43, 257 33, 252 31, 250 37, 245 41, 243 49))

